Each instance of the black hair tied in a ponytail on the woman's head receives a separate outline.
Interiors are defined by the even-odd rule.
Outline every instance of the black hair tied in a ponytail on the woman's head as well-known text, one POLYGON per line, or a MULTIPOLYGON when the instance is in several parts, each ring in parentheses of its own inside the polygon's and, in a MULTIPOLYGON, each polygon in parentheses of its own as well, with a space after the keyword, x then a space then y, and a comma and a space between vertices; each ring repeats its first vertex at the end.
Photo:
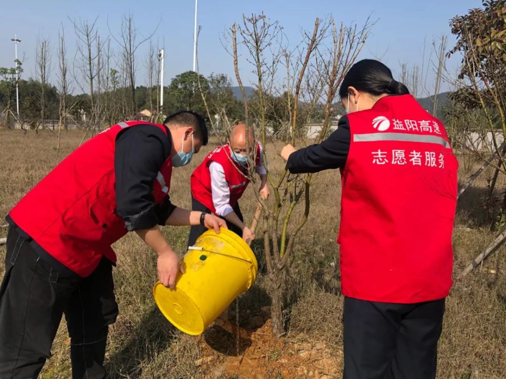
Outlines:
POLYGON ((379 61, 364 59, 355 63, 346 74, 339 96, 348 96, 348 87, 355 87, 358 91, 370 93, 373 96, 381 94, 409 94, 408 88, 395 80, 392 71, 379 61))

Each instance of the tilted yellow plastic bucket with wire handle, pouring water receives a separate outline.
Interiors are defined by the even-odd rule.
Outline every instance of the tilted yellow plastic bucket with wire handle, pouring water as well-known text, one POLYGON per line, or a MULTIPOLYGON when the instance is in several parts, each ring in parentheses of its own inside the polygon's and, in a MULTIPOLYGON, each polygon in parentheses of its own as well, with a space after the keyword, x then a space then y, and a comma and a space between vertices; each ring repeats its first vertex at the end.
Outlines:
POLYGON ((234 232, 207 230, 183 258, 186 269, 176 288, 159 281, 153 296, 161 313, 192 336, 201 334, 241 293, 255 282, 258 263, 249 246, 234 232))

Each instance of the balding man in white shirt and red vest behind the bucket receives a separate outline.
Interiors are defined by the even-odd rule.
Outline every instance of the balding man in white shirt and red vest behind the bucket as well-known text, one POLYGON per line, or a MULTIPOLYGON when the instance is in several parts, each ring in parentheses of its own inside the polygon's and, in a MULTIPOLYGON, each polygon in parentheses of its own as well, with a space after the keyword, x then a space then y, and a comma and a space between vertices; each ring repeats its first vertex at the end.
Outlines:
MULTIPOLYGON (((238 203, 249 183, 247 147, 261 178, 259 195, 267 199, 270 191, 263 163, 263 148, 260 143, 255 143, 251 130, 247 130, 245 124, 234 126, 230 143, 210 152, 193 171, 190 179, 192 210, 212 212, 224 218, 229 229, 242 236, 244 241, 254 239, 251 230, 244 224, 238 203)), ((199 225, 192 226, 188 246, 192 246, 204 231, 199 225)))

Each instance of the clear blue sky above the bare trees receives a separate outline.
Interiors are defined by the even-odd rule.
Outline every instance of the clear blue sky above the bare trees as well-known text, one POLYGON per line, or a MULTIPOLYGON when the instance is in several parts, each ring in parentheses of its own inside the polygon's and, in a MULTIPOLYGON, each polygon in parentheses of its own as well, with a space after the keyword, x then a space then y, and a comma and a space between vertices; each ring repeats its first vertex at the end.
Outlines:
MULTIPOLYGON (((264 12, 271 20, 278 20, 284 33, 292 43, 300 39, 301 28, 310 29, 316 17, 331 14, 336 21, 346 24, 363 23, 368 16, 378 19, 371 30, 361 58, 381 57, 394 73, 398 74, 400 63, 421 66, 426 47, 426 61, 432 49, 433 39, 448 35, 448 46, 454 38, 449 32, 449 20, 457 14, 466 13, 470 8, 481 6, 481 0, 383 0, 383 1, 340 1, 340 0, 199 0, 198 24, 202 27, 199 37, 200 72, 223 72, 234 78, 233 62, 224 50, 220 35, 233 22, 240 22, 242 14, 264 12)), ((165 83, 178 73, 191 70, 193 54, 193 0, 17 0, 2 6, 4 14, 0 23, 0 67, 12 66, 14 45, 11 38, 17 34, 22 40, 18 55, 24 54, 24 78, 35 74, 35 46, 38 37, 50 38, 53 48, 52 81, 56 80, 56 43, 58 29, 65 28, 69 58, 75 52, 75 36, 72 19, 93 21, 99 16, 97 25, 102 38, 109 34, 108 24, 113 33, 120 30, 121 17, 131 13, 141 35, 150 34, 160 22, 154 35, 154 42, 165 48, 165 83), (160 21, 161 20, 161 21, 160 21)), ((115 43, 113 43, 115 46, 115 43)), ((147 43, 139 49, 138 84, 145 82, 145 54, 147 43)), ((427 62, 426 62, 427 64, 427 62)), ((449 62, 456 68, 458 59, 449 62)), ((242 72, 248 77, 250 70, 241 64, 242 72)), ((429 81, 431 73, 429 73, 429 81)), ((247 81, 247 80, 246 80, 247 81)), ((233 79, 235 84, 235 79, 233 79)), ((443 89, 448 88, 443 85, 443 89)))

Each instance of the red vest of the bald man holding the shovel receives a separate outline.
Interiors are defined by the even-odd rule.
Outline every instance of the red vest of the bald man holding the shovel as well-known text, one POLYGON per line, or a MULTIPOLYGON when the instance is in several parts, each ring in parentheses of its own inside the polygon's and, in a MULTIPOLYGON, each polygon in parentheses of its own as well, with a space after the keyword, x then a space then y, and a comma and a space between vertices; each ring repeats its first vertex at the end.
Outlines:
MULTIPOLYGON (((261 159, 260 144, 257 144, 255 166, 260 164, 261 159)), ((211 191, 211 175, 209 173, 209 164, 211 162, 217 162, 223 167, 225 180, 228 183, 228 189, 230 191, 231 207, 237 204, 237 201, 249 184, 249 179, 246 169, 232 159, 230 145, 219 146, 210 152, 191 174, 190 184, 193 197, 215 213, 216 209, 211 191)))

